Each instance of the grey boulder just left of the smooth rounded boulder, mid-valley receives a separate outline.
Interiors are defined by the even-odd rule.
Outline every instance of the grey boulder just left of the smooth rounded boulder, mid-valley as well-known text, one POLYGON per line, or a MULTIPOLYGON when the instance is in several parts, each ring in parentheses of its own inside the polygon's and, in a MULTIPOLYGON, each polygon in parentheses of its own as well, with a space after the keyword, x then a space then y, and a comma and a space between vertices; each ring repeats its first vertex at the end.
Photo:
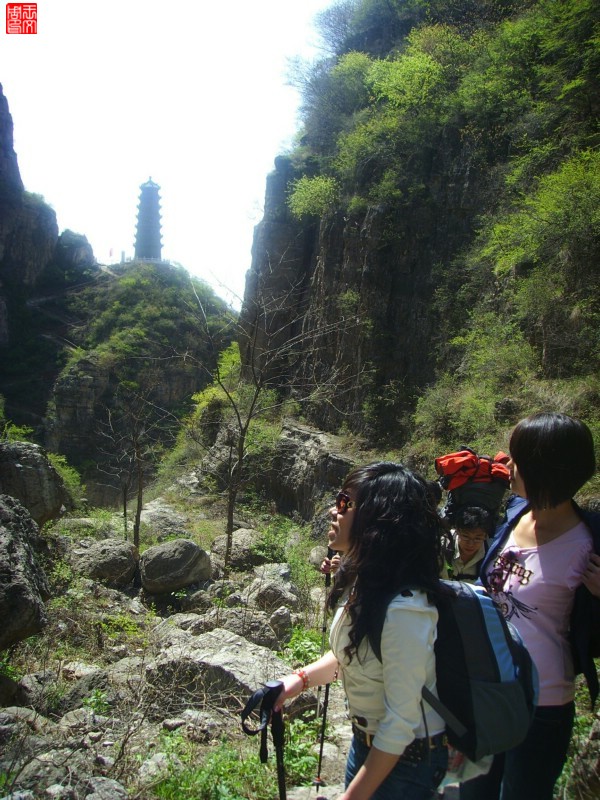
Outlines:
POLYGON ((71 553, 73 567, 93 580, 114 587, 131 583, 137 567, 137 550, 122 539, 84 539, 71 553))

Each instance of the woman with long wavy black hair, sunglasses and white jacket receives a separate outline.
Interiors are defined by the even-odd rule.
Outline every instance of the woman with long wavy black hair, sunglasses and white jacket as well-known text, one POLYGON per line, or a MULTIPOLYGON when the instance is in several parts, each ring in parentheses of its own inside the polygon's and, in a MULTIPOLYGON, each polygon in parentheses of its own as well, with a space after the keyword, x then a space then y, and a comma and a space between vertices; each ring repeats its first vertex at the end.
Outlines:
POLYGON ((338 800, 425 800, 448 759, 444 722, 421 701, 423 686, 436 693, 441 522, 427 482, 391 462, 351 472, 330 515, 343 554, 331 650, 283 679, 276 706, 339 674, 354 736, 338 800))

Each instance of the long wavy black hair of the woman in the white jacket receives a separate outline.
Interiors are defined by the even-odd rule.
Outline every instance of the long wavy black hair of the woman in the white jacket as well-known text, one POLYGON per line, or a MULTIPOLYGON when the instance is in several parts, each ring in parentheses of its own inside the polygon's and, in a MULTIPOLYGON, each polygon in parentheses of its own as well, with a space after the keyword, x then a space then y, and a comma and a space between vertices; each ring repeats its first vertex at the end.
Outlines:
POLYGON ((402 464, 378 461, 353 470, 344 491, 356 500, 350 544, 329 598, 334 608, 350 590, 352 659, 366 636, 378 652, 390 600, 407 587, 440 591, 442 523, 427 481, 402 464))

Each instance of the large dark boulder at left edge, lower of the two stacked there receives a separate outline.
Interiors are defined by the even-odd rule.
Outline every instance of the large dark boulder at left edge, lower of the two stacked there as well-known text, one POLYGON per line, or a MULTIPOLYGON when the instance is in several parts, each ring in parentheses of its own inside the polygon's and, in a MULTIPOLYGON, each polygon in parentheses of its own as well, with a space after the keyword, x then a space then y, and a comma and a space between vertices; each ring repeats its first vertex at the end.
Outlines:
POLYGON ((49 588, 35 556, 38 538, 21 503, 0 495, 0 649, 39 633, 47 622, 49 588))

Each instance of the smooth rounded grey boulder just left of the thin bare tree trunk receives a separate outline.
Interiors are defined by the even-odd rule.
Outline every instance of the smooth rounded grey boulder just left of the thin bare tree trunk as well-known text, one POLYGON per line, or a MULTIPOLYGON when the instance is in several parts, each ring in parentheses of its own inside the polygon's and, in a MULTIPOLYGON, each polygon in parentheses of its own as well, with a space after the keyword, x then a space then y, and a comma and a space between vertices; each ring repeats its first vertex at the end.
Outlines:
POLYGON ((150 594, 167 594, 201 583, 211 575, 210 556, 190 539, 149 547, 140 557, 142 586, 150 594))

